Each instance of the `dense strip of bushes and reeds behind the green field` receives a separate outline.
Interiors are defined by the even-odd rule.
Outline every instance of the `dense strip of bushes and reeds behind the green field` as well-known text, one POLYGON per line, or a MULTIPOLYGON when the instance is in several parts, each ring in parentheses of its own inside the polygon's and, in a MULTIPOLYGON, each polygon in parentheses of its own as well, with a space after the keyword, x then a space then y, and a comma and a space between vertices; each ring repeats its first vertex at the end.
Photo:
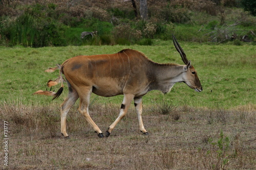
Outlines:
POLYGON ((0 6, 0 44, 6 46, 151 45, 173 33, 183 41, 240 44, 244 35, 256 41, 249 0, 147 0, 148 20, 136 17, 131 1, 1 0, 0 6), (81 39, 83 31, 98 32, 81 39))

